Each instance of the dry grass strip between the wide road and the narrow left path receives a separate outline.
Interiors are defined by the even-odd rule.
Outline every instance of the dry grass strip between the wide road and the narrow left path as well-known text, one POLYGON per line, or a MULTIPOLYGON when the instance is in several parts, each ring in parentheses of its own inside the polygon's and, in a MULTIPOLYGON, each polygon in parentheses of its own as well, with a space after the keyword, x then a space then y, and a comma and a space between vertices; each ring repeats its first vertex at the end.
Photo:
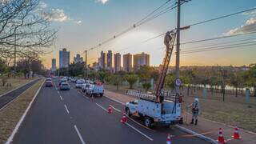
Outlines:
POLYGON ((0 143, 6 142, 42 82, 43 80, 40 80, 35 83, 19 98, 0 111, 0 143))

